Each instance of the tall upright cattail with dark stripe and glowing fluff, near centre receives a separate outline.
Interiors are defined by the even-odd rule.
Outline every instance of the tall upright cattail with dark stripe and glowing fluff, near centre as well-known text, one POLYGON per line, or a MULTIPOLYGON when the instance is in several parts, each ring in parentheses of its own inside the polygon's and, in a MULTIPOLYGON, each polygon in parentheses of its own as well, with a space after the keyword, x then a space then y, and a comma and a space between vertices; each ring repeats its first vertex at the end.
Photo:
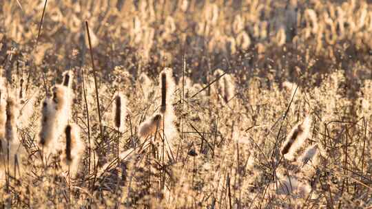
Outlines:
POLYGON ((160 75, 161 83, 161 113, 171 111, 172 107, 172 94, 174 93, 176 83, 172 78, 172 69, 165 68, 160 75))

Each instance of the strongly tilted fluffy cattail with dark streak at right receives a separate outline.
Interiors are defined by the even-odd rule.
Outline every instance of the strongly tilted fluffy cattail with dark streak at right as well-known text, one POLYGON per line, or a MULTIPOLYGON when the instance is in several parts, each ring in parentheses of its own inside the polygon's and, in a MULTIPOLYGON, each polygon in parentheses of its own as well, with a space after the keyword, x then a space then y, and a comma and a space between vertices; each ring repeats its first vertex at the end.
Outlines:
POLYGON ((309 137, 311 126, 311 118, 307 116, 303 122, 299 122, 293 127, 287 140, 282 146, 282 155, 287 159, 293 159, 298 148, 303 144, 304 140, 309 137))

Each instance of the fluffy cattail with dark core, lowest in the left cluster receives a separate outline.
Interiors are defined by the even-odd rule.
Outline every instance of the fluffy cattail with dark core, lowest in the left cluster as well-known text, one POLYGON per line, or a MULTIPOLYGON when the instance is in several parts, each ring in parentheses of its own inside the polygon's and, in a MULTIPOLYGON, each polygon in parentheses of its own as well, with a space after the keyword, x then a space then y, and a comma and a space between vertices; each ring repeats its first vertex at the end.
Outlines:
POLYGON ((65 140, 65 164, 70 166, 70 172, 74 175, 85 148, 79 135, 79 126, 76 124, 65 126, 65 140))

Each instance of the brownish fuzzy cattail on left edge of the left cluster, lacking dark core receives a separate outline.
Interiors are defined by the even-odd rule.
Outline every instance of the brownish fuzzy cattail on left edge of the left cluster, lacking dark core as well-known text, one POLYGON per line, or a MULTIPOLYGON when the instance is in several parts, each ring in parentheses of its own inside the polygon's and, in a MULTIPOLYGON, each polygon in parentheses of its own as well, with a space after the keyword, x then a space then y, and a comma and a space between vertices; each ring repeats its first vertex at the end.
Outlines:
POLYGON ((41 110, 41 130, 39 133, 39 144, 43 147, 50 147, 56 142, 56 110, 54 102, 46 98, 42 104, 41 110))

